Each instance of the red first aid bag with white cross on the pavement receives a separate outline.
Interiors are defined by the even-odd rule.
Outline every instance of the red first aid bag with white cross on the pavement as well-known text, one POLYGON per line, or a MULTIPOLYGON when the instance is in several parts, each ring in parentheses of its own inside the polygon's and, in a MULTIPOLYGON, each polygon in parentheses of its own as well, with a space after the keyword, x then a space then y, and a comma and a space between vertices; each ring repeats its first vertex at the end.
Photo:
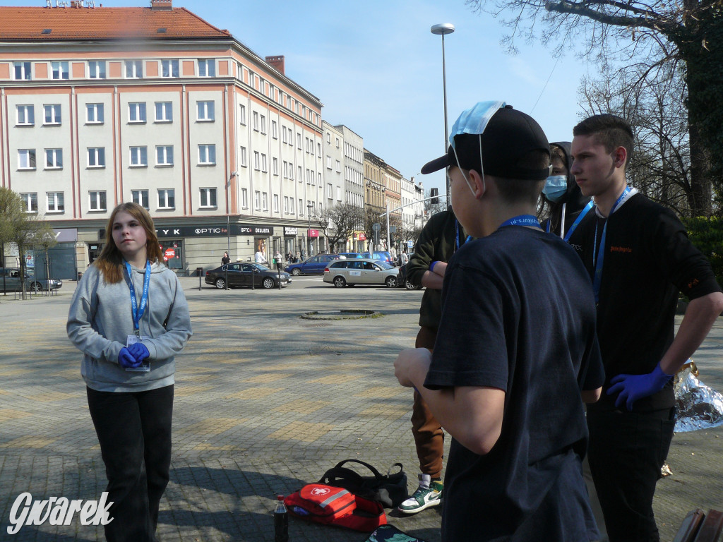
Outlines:
POLYGON ((287 496, 283 502, 296 517, 363 533, 371 532, 387 522, 380 503, 323 483, 309 483, 287 496))

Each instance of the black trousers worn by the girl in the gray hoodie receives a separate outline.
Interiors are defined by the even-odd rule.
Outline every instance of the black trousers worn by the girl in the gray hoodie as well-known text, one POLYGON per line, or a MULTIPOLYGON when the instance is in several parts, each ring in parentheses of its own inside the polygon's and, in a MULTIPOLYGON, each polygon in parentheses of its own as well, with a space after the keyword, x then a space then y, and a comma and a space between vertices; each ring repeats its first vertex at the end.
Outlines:
POLYGON ((87 388, 87 397, 113 502, 106 540, 155 542, 171 466, 174 387, 131 393, 87 388))

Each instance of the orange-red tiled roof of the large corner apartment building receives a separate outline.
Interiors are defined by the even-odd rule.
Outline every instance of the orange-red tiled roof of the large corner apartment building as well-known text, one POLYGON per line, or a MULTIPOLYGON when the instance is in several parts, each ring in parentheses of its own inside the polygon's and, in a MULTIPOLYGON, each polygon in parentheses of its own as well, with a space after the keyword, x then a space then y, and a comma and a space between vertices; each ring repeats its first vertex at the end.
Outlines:
MULTIPOLYGON (((0 41, 213 39, 231 38, 185 8, 92 7, 80 0, 67 7, 0 7, 0 41)), ((161 4, 161 2, 154 2, 161 4)))

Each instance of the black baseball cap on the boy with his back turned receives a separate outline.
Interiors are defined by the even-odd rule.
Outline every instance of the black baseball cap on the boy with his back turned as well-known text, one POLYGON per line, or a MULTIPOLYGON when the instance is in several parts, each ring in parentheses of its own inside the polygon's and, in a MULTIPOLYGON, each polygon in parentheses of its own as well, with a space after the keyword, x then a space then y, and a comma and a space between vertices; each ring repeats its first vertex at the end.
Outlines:
POLYGON ((450 145, 446 155, 424 164, 422 173, 426 175, 458 165, 462 169, 484 171, 496 177, 529 181, 542 181, 549 175, 549 168, 526 169, 518 166, 519 159, 531 150, 544 150, 549 154, 549 142, 535 119, 512 106, 500 108, 492 115, 484 133, 455 135, 454 145, 455 148, 450 145), (480 145, 482 163, 479 160, 480 145))

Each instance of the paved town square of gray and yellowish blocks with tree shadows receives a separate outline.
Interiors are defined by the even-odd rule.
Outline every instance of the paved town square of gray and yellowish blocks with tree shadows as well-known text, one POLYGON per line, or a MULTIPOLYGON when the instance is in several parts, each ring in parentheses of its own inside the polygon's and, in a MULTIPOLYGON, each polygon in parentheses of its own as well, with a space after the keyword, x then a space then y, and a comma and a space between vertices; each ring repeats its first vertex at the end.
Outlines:
MULTIPOLYGON (((316 481, 341 460, 386 469, 417 463, 411 393, 393 361, 414 345, 421 291, 330 288, 320 278, 283 291, 217 291, 181 278, 194 335, 176 358, 171 482, 161 502, 163 542, 272 541, 275 494, 316 481), (372 309, 383 316, 307 320, 306 311, 372 309)), ((0 294, 0 541, 103 540, 102 528, 30 525, 7 534, 12 504, 98 499, 106 478, 65 322, 74 282, 59 296, 0 294)), ((701 381, 723 390, 723 321, 694 356, 701 381)), ((693 508, 723 509, 723 428, 677 434, 673 476, 658 484, 656 517, 670 541, 693 508)), ((388 514, 390 523, 440 540, 440 513, 388 514)), ((291 541, 359 541, 340 528, 290 520, 291 541)))

